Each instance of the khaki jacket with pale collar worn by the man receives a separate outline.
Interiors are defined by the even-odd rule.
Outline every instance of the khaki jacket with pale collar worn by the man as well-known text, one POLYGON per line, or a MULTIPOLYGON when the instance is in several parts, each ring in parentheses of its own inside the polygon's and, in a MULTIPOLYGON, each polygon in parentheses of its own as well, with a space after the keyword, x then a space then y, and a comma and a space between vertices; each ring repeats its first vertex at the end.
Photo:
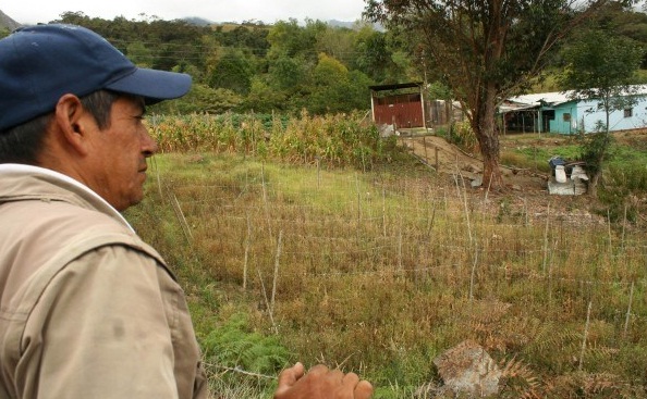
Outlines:
POLYGON ((206 398, 184 292, 85 186, 0 165, 0 399, 206 398))

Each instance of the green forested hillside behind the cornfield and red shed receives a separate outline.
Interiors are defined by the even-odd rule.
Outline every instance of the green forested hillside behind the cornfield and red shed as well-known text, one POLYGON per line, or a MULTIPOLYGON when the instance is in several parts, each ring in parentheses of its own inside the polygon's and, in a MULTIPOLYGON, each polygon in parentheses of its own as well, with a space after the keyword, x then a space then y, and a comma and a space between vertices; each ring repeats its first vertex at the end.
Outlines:
MULTIPOLYGON (((647 14, 612 3, 600 18, 624 36, 647 43, 647 14)), ((255 112, 345 113, 370 109, 370 85, 424 82, 430 97, 445 97, 442 76, 425 62, 415 35, 376 29, 367 22, 353 27, 321 21, 279 21, 272 25, 194 24, 142 15, 112 21, 68 12, 57 22, 91 28, 141 66, 191 74, 190 96, 158 105, 174 113, 255 112), (172 108, 172 109, 169 109, 172 108)), ((13 28, 0 27, 0 36, 13 28)), ((647 67, 647 57, 643 67, 647 67)), ((559 73, 556 60, 552 74, 559 73)), ((559 90, 550 78, 536 90, 559 90)))

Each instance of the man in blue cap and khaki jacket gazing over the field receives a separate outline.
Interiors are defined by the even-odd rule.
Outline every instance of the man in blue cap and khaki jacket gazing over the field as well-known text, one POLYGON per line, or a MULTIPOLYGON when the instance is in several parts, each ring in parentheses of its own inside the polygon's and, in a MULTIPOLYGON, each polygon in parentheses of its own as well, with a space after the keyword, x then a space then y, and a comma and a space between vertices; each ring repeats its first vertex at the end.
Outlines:
MULTIPOLYGON (((145 107, 190 86, 78 26, 0 40, 0 399, 207 397, 183 291, 120 214, 157 149, 145 107)), ((274 398, 371 391, 297 363, 274 398)))

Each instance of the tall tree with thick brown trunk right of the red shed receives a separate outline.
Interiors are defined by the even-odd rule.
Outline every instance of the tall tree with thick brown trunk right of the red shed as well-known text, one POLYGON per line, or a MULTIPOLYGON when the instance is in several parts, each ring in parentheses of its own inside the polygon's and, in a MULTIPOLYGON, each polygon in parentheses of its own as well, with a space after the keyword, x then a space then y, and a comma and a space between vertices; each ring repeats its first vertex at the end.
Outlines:
POLYGON ((539 76, 570 30, 610 0, 365 0, 365 16, 419 40, 467 119, 484 185, 502 189, 497 108, 539 76))

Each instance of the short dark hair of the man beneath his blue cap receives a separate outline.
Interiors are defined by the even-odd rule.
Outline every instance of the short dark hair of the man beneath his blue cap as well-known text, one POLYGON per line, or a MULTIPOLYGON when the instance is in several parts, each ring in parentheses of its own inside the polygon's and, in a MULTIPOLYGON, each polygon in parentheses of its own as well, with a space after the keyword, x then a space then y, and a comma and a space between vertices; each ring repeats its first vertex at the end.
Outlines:
MULTIPOLYGON (((95 117, 99 129, 105 129, 110 127, 110 110, 118 98, 114 91, 98 90, 82 97, 81 103, 95 117)), ((50 112, 0 132, 0 163, 36 165, 52 116, 50 112)))

